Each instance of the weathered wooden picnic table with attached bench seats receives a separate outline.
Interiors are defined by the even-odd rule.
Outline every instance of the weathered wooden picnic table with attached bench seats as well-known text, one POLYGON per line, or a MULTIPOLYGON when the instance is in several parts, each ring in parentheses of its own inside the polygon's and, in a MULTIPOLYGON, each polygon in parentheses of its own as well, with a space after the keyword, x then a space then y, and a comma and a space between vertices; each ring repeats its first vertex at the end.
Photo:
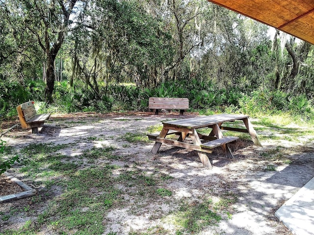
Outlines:
POLYGON ((254 130, 249 120, 249 116, 247 115, 218 114, 164 121, 162 124, 163 128, 160 133, 148 134, 148 138, 152 141, 155 141, 154 147, 152 149, 154 154, 157 153, 162 143, 193 149, 197 151, 202 164, 208 168, 212 168, 208 158, 208 153, 211 153, 211 149, 215 147, 222 146, 227 157, 234 157, 228 146, 228 143, 236 141, 239 138, 230 136, 224 137, 221 130, 249 133, 255 145, 262 146, 257 137, 256 131, 254 130), (222 125, 225 122, 233 122, 235 120, 243 121, 246 129, 227 127, 222 125), (198 129, 205 127, 212 129, 209 135, 203 135, 197 132, 198 129), (166 136, 171 134, 179 135, 178 140, 166 139, 166 136), (189 137, 193 143, 186 142, 186 137, 189 137))

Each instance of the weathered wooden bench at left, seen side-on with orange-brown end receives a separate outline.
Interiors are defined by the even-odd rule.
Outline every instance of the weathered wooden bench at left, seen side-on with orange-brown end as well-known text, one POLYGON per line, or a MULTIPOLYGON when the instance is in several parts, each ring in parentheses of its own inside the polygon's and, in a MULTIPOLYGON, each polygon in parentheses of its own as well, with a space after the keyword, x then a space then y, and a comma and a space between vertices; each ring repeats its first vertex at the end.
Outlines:
POLYGON ((38 133, 38 127, 42 127, 50 114, 37 114, 34 101, 28 101, 16 107, 23 129, 31 128, 32 134, 38 133))

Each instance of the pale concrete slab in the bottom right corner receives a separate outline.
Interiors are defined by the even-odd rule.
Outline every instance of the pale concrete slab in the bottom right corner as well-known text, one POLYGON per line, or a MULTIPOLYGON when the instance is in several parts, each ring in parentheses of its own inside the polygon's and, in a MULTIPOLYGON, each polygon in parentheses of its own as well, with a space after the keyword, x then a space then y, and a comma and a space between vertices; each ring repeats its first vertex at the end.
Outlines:
POLYGON ((275 213, 295 235, 314 235, 314 178, 275 213))

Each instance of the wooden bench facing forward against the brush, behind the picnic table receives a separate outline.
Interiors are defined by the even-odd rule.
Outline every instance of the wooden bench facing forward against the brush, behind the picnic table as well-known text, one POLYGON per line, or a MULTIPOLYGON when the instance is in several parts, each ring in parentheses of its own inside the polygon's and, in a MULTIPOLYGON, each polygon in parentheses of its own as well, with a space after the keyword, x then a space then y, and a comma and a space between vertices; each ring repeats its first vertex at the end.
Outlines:
POLYGON ((158 115, 159 109, 179 109, 180 115, 184 110, 189 109, 188 98, 168 98, 168 97, 150 97, 148 107, 155 110, 158 115))

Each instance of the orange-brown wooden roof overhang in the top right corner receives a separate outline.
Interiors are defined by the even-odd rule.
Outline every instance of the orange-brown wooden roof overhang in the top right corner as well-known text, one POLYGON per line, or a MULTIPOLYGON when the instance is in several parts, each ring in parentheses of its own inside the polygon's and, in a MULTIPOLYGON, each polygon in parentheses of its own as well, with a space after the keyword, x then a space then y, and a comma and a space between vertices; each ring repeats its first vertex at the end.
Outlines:
POLYGON ((314 0, 209 0, 314 44, 314 0))

